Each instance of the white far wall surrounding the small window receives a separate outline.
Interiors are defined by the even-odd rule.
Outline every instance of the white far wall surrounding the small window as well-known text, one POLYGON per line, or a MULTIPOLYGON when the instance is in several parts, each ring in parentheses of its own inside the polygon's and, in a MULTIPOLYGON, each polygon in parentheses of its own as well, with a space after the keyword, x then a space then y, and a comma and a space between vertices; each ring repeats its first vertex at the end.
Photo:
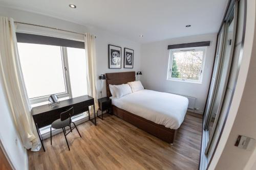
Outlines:
POLYGON ((197 98, 195 107, 199 109, 199 113, 203 113, 214 62, 216 38, 217 34, 205 34, 142 44, 141 81, 143 85, 151 90, 193 96, 197 98), (169 58, 167 46, 198 41, 211 41, 207 48, 202 84, 166 80, 169 58))

